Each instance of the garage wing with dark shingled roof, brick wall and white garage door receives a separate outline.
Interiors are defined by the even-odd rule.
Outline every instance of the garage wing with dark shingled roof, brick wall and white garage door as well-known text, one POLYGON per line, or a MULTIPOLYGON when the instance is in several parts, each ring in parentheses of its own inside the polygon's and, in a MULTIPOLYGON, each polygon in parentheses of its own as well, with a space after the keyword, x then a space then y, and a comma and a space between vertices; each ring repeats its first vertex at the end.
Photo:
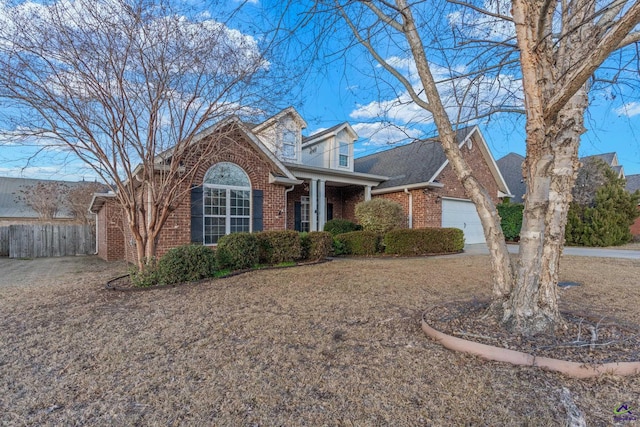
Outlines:
MULTIPOLYGON (((509 197, 509 187, 478 127, 460 129, 456 138, 463 157, 493 201, 509 197)), ((355 170, 389 177, 371 194, 400 203, 409 228, 456 227, 463 230, 466 243, 485 241, 475 205, 437 139, 415 141, 358 158, 355 170)))

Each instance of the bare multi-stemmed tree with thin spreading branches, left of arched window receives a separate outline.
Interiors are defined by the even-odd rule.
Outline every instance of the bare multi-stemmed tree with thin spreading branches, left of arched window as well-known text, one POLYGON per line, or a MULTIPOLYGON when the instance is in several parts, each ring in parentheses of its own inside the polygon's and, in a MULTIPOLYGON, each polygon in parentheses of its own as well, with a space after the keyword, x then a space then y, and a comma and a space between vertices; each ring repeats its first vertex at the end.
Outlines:
POLYGON ((232 137, 221 121, 262 112, 286 89, 266 58, 277 32, 254 38, 211 17, 230 20, 244 3, 189 4, 1 8, 0 99, 14 113, 12 133, 71 150, 112 183, 140 268, 199 166, 232 137))

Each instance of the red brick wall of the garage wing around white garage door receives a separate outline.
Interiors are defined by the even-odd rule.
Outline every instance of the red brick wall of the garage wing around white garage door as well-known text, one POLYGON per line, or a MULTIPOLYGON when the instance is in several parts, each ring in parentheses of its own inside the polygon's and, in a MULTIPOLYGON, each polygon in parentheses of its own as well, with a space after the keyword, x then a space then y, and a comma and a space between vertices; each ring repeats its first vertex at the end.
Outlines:
MULTIPOLYGON (((489 165, 482 155, 480 144, 472 144, 471 150, 464 145, 462 154, 469 166, 473 169, 475 177, 487 190, 495 203, 498 203, 498 184, 496 183, 489 165)), ((451 165, 447 164, 436 178, 444 185, 442 188, 410 190, 413 196, 413 228, 440 227, 442 225, 442 197, 454 197, 468 199, 464 188, 451 165)), ((383 197, 400 203, 406 215, 409 212, 409 195, 404 192, 380 194, 375 197, 383 197)), ((408 219, 407 219, 408 223, 408 219)))

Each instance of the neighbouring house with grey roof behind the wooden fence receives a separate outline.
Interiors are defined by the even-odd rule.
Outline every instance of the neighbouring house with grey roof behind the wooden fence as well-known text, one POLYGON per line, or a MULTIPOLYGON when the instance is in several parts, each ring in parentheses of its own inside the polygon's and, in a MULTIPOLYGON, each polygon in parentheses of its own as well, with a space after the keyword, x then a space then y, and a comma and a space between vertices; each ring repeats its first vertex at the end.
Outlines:
MULTIPOLYGON (((29 196, 23 192, 35 188, 38 184, 51 183, 61 184, 69 189, 85 184, 85 182, 0 177, 0 226, 40 222, 40 214, 26 202, 29 196)), ((70 223, 75 220, 75 216, 68 209, 60 209, 54 218, 47 222, 70 223)))

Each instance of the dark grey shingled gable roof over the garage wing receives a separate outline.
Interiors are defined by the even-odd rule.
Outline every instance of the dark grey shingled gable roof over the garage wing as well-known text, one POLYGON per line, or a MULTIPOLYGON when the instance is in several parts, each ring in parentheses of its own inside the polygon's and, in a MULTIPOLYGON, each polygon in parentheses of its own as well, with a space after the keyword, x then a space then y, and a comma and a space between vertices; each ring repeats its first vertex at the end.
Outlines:
MULTIPOLYGON (((500 170, 477 126, 458 129, 456 142, 461 146, 473 134, 478 135, 481 151, 498 183, 499 190, 509 194, 509 187, 500 174, 500 170)), ((388 181, 376 187, 376 191, 379 191, 417 185, 439 186, 437 177, 448 164, 449 161, 439 139, 429 138, 355 159, 354 170, 361 173, 388 176, 388 181)))

